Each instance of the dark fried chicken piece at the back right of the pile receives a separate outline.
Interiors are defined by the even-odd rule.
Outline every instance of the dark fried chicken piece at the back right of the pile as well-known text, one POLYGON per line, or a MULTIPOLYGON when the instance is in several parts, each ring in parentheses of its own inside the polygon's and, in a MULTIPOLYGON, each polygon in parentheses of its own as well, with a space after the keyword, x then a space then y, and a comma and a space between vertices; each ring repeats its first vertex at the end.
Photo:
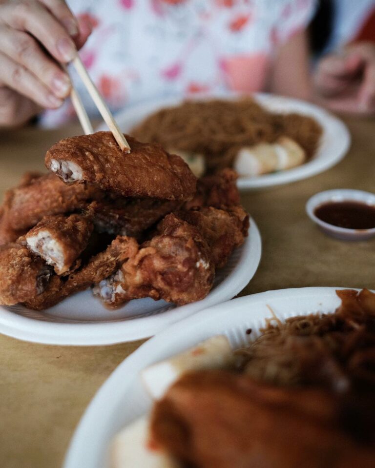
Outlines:
POLYGON ((229 168, 222 169, 214 175, 201 177, 198 179, 193 199, 185 203, 184 208, 202 206, 223 208, 240 205, 240 193, 236 185, 237 178, 237 173, 229 168))

